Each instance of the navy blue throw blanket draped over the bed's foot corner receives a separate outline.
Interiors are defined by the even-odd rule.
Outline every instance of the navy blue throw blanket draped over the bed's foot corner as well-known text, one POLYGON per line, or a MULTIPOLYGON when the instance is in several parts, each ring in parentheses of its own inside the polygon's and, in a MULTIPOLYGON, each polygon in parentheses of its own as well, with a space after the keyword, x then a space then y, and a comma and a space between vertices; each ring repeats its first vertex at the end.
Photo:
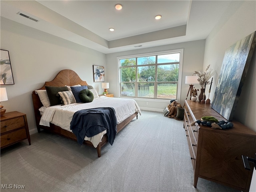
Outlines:
POLYGON ((112 145, 116 137, 116 112, 112 107, 83 109, 74 113, 70 129, 77 142, 83 144, 85 136, 92 137, 107 130, 108 142, 112 145))

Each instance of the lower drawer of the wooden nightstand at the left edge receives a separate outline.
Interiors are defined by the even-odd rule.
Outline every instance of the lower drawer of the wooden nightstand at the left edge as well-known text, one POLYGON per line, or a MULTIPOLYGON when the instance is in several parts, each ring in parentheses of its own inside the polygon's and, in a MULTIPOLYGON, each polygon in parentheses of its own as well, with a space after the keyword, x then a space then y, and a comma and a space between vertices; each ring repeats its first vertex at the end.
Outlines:
POLYGON ((27 138, 26 129, 22 128, 7 134, 1 135, 1 148, 22 141, 27 138))

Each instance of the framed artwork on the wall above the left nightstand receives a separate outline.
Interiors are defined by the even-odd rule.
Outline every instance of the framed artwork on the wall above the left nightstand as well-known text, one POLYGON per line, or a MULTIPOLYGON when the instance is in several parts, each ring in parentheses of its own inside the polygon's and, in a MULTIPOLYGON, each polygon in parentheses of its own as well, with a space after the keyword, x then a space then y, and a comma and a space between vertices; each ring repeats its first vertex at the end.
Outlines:
POLYGON ((14 84, 9 52, 7 50, 2 50, 2 49, 0 52, 0 84, 1 85, 14 84))

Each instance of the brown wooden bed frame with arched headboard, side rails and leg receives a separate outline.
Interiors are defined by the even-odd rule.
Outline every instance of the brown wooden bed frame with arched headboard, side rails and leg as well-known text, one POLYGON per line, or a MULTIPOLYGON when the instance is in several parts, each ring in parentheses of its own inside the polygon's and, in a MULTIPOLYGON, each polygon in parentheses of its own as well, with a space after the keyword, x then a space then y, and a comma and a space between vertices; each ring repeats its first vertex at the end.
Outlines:
MULTIPOLYGON (((40 88, 40 89, 45 89, 45 86, 65 86, 65 85, 73 86, 73 85, 77 85, 77 84, 88 85, 86 83, 86 81, 83 81, 80 79, 80 77, 78 76, 78 74, 76 74, 76 72, 69 70, 69 69, 65 69, 65 70, 60 71, 57 74, 57 76, 54 78, 54 80, 45 82, 44 86, 42 86, 42 88, 40 88)), ((40 90, 40 89, 38 89, 38 90, 40 90)), ((73 134, 72 132, 69 132, 68 130, 64 130, 54 124, 50 123, 50 127, 39 125, 40 118, 41 118, 39 108, 42 107, 43 105, 40 101, 38 94, 36 94, 35 91, 32 92, 32 100, 33 100, 33 105, 34 105, 34 113, 35 113, 36 126, 37 126, 38 133, 40 133, 40 129, 43 129, 43 130, 47 130, 52 133, 56 133, 56 134, 65 136, 72 140, 77 140, 75 134, 73 134)), ((135 117, 138 119, 138 112, 135 112, 130 117, 126 118, 123 122, 118 124, 117 132, 120 132, 120 130, 122 130, 135 117)), ((98 152, 98 157, 100 157, 100 155, 101 155, 102 146, 104 146, 107 142, 108 142, 108 136, 106 134, 104 134, 104 136, 102 138, 102 142, 100 142, 96 148, 97 152, 98 152)), ((93 145, 90 141, 84 141, 84 144, 93 147, 93 145)))

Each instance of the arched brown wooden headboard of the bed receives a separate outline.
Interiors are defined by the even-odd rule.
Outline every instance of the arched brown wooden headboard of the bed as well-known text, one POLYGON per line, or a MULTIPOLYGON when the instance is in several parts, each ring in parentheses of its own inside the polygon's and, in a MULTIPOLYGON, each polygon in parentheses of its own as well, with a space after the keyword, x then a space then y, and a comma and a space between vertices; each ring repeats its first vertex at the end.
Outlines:
MULTIPOLYGON (((70 70, 70 69, 64 69, 61 70, 56 77, 54 78, 54 80, 52 81, 46 81, 44 83, 44 86, 42 86, 41 88, 37 89, 45 89, 45 86, 56 86, 56 87, 62 87, 62 86, 73 86, 73 85, 88 85, 86 83, 86 81, 83 81, 80 79, 80 77, 78 76, 78 74, 76 74, 76 72, 70 70)), ((40 112, 39 112, 39 108, 42 107, 42 103, 40 101, 40 98, 38 96, 38 94, 36 94, 35 91, 32 92, 32 100, 33 100, 33 105, 34 105, 34 113, 35 113, 35 117, 36 117, 36 126, 39 127, 39 122, 40 122, 40 112)))

